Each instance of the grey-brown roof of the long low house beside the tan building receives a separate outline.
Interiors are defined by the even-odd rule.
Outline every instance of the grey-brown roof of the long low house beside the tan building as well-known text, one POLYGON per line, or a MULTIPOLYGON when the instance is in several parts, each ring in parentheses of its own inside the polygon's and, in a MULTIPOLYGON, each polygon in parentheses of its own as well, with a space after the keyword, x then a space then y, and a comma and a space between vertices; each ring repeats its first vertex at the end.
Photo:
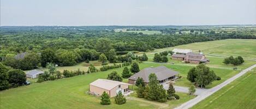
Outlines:
POLYGON ((171 70, 165 66, 148 67, 148 68, 142 69, 142 70, 140 70, 140 72, 135 73, 134 75, 130 76, 129 79, 137 80, 140 77, 140 78, 144 79, 144 82, 149 82, 148 76, 151 73, 154 73, 157 75, 158 81, 170 78, 171 76, 178 74, 178 72, 171 70))

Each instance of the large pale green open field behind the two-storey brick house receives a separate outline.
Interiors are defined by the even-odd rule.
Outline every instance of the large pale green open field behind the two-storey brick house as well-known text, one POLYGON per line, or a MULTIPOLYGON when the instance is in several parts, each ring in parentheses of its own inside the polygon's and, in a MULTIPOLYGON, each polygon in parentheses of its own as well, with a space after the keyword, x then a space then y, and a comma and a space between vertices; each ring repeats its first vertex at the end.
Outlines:
POLYGON ((203 52, 209 55, 242 56, 248 59, 256 59, 256 40, 227 39, 207 42, 183 44, 181 46, 156 49, 154 52, 172 50, 174 48, 192 49, 193 52, 203 52))

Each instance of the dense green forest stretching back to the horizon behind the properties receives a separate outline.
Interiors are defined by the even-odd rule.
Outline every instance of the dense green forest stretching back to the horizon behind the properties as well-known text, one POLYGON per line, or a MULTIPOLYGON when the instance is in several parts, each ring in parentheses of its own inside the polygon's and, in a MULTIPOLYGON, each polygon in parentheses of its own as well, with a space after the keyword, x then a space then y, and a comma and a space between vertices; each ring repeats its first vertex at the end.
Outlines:
POLYGON ((128 59, 120 54, 146 52, 193 42, 222 39, 256 39, 255 26, 84 26, 1 27, 0 61, 23 70, 45 67, 47 62, 72 66, 98 60, 104 54, 110 62, 128 59), (158 30, 162 34, 115 31, 158 30), (189 31, 183 34, 182 31, 189 31), (176 34, 178 33, 178 34, 176 34), (203 34, 200 34, 203 33, 203 34))

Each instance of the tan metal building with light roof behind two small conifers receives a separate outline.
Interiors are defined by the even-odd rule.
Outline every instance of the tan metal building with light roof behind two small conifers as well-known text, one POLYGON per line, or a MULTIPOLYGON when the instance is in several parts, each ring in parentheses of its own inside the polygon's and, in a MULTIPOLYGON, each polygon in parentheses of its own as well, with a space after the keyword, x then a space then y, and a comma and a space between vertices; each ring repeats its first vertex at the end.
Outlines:
POLYGON ((121 91, 123 94, 128 93, 129 85, 130 84, 120 81, 98 79, 90 84, 90 92, 97 95, 102 95, 102 93, 105 91, 110 97, 115 97, 119 91, 121 91))

